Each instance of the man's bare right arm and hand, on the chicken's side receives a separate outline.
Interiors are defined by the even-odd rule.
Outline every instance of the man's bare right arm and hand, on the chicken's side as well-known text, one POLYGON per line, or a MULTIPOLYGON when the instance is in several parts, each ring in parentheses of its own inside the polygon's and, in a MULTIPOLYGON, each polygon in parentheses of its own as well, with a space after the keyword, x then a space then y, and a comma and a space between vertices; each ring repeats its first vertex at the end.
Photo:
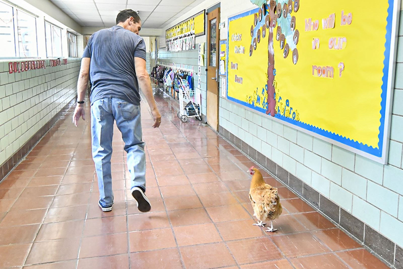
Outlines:
POLYGON ((145 67, 145 60, 140 57, 134 57, 134 65, 137 79, 139 81, 139 87, 141 89, 141 92, 143 92, 143 94, 145 95, 145 99, 147 100, 147 103, 151 108, 152 116, 154 117, 153 127, 158 128, 161 124, 161 115, 154 100, 150 76, 148 75, 147 69, 145 67))

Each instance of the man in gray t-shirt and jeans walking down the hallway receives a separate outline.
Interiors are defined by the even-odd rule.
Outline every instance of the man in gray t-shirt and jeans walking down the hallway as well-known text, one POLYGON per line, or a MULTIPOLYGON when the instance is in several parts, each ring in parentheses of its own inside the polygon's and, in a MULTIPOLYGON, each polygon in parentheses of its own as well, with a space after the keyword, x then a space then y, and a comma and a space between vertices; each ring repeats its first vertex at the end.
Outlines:
POLYGON ((77 83, 78 100, 73 123, 85 119, 84 98, 88 79, 91 79, 91 136, 92 156, 98 176, 102 211, 113 205, 110 158, 112 155, 113 125, 116 121, 127 152, 127 166, 131 174, 131 193, 141 212, 150 211, 145 196, 145 152, 142 141, 140 94, 142 90, 152 116, 154 128, 161 124, 145 67, 145 42, 138 33, 139 15, 131 9, 121 11, 112 28, 94 33, 88 41, 77 83))

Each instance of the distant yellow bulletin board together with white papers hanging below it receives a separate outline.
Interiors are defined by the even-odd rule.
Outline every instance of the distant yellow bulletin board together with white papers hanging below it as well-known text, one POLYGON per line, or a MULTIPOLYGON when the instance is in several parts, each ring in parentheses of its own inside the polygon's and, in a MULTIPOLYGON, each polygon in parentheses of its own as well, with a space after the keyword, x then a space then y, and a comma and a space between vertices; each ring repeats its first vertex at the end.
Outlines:
POLYGON ((165 31, 167 51, 195 49, 195 38, 206 34, 206 10, 165 31))

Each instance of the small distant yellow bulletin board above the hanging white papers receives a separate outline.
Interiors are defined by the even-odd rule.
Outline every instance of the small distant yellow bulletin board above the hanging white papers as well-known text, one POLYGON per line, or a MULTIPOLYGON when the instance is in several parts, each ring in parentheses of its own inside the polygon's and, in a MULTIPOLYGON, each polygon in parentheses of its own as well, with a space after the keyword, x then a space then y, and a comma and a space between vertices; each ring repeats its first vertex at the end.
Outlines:
POLYGON ((195 34, 195 36, 206 34, 206 10, 202 10, 196 15, 178 23, 165 31, 165 38, 177 38, 185 34, 195 34))

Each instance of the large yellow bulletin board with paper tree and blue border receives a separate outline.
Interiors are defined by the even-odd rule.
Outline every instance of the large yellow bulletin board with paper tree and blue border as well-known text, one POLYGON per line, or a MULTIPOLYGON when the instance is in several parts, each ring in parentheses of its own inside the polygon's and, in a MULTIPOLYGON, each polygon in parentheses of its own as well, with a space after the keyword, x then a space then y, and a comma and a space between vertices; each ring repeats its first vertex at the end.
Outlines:
POLYGON ((400 0, 272 0, 230 17, 227 98, 387 162, 400 0))

